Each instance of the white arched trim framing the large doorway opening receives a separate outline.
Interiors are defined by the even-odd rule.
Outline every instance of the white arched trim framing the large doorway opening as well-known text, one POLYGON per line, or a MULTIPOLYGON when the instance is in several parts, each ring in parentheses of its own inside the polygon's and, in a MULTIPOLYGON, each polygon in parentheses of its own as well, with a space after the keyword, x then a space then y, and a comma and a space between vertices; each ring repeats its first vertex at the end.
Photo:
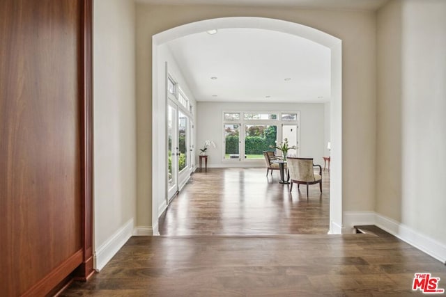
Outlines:
POLYGON ((165 197, 166 175, 165 164, 162 160, 166 158, 162 143, 166 135, 164 98, 158 96, 160 83, 157 77, 157 47, 176 38, 194 33, 208 31, 210 29, 249 28, 267 29, 282 33, 289 33, 301 38, 312 40, 319 45, 330 49, 330 143, 332 163, 330 168, 330 230, 329 234, 341 234, 342 232, 342 42, 318 29, 309 26, 287 22, 281 19, 270 19, 265 17, 222 17, 217 19, 206 19, 157 33, 152 37, 152 227, 153 234, 158 232, 158 205, 156 197, 165 197), (163 116, 164 115, 164 116, 163 116))

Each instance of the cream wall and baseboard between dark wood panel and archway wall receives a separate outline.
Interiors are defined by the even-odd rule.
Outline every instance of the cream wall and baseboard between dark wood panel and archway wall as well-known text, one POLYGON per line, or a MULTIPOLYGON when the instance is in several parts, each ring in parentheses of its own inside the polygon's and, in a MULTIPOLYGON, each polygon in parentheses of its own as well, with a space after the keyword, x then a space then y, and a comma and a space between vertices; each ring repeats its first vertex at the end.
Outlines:
POLYGON ((93 18, 94 247, 100 269, 136 221, 134 3, 95 0, 93 18))

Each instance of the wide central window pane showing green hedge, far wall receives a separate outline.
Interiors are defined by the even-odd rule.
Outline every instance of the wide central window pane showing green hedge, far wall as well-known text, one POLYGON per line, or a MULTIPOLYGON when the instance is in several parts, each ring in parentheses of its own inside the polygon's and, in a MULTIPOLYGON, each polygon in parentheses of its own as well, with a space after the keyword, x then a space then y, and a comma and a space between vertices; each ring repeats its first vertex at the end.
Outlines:
POLYGON ((245 159, 263 160, 263 152, 274 150, 277 125, 245 125, 245 159))

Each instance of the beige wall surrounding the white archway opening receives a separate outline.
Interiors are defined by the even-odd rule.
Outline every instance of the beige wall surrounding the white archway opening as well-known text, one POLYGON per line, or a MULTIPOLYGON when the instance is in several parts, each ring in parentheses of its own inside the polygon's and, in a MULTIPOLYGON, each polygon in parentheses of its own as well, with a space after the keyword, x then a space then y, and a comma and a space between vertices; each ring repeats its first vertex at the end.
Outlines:
MULTIPOLYGON (((342 199, 344 210, 372 211, 375 199, 376 15, 366 11, 259 6, 157 6, 137 3, 138 221, 151 224, 152 41, 167 29, 218 17, 268 17, 342 40, 342 199)), ((333 140, 332 140, 333 141, 333 140)), ((341 152, 332 152, 341 154, 341 152)), ((334 162, 340 160, 333 160, 334 162)), ((333 172, 332 172, 333 173, 333 172)))

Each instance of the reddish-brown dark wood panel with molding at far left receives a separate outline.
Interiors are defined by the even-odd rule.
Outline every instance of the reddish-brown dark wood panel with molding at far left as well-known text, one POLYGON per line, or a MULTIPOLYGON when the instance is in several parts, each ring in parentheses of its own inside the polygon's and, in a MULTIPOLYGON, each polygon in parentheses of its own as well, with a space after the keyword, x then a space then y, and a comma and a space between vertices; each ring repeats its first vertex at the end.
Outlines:
POLYGON ((93 273, 91 0, 0 1, 0 295, 93 273))

